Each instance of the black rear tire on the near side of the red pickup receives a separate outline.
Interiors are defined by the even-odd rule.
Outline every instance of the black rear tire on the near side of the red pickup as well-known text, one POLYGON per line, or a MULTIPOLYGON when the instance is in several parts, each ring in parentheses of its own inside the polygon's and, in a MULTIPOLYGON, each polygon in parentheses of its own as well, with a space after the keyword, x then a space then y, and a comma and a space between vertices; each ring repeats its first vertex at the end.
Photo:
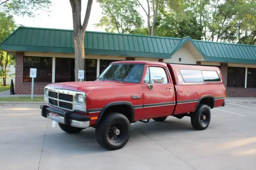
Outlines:
POLYGON ((205 130, 211 121, 211 110, 208 105, 205 104, 199 104, 196 111, 194 113, 191 113, 190 116, 191 125, 196 130, 205 130), (206 116, 206 120, 203 120, 201 115, 206 116))

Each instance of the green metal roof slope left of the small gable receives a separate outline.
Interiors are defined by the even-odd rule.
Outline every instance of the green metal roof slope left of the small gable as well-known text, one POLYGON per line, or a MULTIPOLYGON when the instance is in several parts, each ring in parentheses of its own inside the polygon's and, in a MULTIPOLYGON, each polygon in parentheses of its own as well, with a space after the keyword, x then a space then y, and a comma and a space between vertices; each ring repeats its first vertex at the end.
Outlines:
MULTIPOLYGON (((86 32, 86 54, 170 58, 176 38, 86 32)), ((2 42, 4 50, 74 53, 73 30, 19 27, 2 42)))

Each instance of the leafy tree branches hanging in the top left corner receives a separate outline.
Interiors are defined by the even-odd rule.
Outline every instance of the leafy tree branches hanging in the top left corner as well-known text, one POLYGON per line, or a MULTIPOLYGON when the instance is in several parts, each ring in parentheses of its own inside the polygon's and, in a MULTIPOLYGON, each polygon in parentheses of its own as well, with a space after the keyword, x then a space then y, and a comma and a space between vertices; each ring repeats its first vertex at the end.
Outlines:
POLYGON ((34 17, 35 12, 50 12, 51 0, 0 0, 2 12, 17 15, 34 17))

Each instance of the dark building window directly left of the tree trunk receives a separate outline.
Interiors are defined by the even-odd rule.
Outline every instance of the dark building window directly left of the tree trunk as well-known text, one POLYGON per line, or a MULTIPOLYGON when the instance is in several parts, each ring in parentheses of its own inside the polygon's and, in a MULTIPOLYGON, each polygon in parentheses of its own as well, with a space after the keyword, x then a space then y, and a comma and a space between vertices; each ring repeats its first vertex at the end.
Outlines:
POLYGON ((55 83, 75 81, 75 59, 55 59, 55 83))

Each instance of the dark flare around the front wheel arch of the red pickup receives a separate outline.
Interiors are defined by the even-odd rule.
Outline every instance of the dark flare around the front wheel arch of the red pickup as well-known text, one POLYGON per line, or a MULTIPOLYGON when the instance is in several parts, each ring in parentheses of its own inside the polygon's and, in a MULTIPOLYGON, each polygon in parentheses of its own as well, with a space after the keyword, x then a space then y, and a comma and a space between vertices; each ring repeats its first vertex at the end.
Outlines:
POLYGON ((99 114, 98 119, 97 119, 95 124, 98 125, 98 123, 100 122, 100 119, 104 115, 104 112, 109 107, 117 106, 117 105, 126 105, 126 106, 130 107, 130 109, 131 109, 131 122, 134 121, 134 106, 132 105, 132 103, 130 103, 128 101, 116 101, 116 102, 108 103, 106 106, 103 107, 103 109, 100 111, 100 114, 99 114))

